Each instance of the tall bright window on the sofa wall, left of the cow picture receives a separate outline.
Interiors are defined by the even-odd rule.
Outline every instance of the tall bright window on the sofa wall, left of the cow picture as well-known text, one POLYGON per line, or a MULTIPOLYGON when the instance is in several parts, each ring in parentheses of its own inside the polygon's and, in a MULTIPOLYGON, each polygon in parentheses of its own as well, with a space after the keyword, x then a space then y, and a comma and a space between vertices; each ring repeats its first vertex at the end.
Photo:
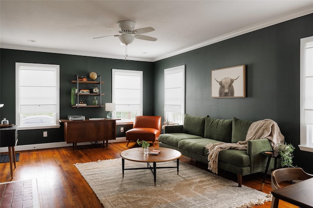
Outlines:
POLYGON ((185 114, 185 66, 164 70, 164 119, 183 124, 185 114))

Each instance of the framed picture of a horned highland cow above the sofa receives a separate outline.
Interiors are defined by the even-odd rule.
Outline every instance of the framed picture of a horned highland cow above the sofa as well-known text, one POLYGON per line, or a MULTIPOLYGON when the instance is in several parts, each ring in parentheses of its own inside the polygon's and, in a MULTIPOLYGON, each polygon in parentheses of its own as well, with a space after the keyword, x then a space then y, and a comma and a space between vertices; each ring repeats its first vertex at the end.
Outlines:
POLYGON ((212 70, 211 97, 246 97, 246 65, 212 70))

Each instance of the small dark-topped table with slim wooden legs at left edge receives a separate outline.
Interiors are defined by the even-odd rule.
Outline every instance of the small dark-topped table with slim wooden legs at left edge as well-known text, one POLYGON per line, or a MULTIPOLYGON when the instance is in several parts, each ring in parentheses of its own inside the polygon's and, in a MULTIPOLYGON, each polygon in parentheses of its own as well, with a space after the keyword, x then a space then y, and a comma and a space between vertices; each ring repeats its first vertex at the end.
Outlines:
POLYGON ((13 178, 13 163, 14 163, 14 168, 16 168, 15 146, 18 143, 17 126, 13 125, 12 127, 1 128, 0 138, 1 138, 0 147, 9 148, 10 171, 11 171, 11 178, 13 178))

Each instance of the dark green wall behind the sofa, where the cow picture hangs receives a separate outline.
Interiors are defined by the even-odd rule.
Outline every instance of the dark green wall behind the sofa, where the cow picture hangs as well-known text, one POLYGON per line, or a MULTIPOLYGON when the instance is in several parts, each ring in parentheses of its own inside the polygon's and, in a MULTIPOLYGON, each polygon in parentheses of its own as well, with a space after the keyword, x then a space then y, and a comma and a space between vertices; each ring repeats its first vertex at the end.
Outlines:
POLYGON ((313 172, 313 153, 300 151, 300 38, 313 36, 313 14, 155 62, 155 114, 163 115, 164 69, 185 65, 186 113, 276 121, 296 147, 298 166, 313 172), (246 65, 246 98, 211 98, 211 70, 246 65), (310 158, 310 159, 309 159, 310 158), (311 164, 311 163, 310 163, 311 164))

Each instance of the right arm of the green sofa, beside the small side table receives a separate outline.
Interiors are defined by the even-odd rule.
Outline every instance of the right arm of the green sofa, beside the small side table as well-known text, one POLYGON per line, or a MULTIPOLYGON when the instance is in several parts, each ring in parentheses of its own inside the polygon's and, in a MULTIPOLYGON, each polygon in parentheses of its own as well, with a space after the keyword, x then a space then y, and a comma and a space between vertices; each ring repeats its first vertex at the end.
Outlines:
MULTIPOLYGON (((264 172, 268 157, 261 154, 262 151, 272 151, 268 139, 249 140, 247 144, 247 154, 250 157, 250 173, 264 172)), ((269 170, 274 168, 274 159, 269 165, 269 170)))

